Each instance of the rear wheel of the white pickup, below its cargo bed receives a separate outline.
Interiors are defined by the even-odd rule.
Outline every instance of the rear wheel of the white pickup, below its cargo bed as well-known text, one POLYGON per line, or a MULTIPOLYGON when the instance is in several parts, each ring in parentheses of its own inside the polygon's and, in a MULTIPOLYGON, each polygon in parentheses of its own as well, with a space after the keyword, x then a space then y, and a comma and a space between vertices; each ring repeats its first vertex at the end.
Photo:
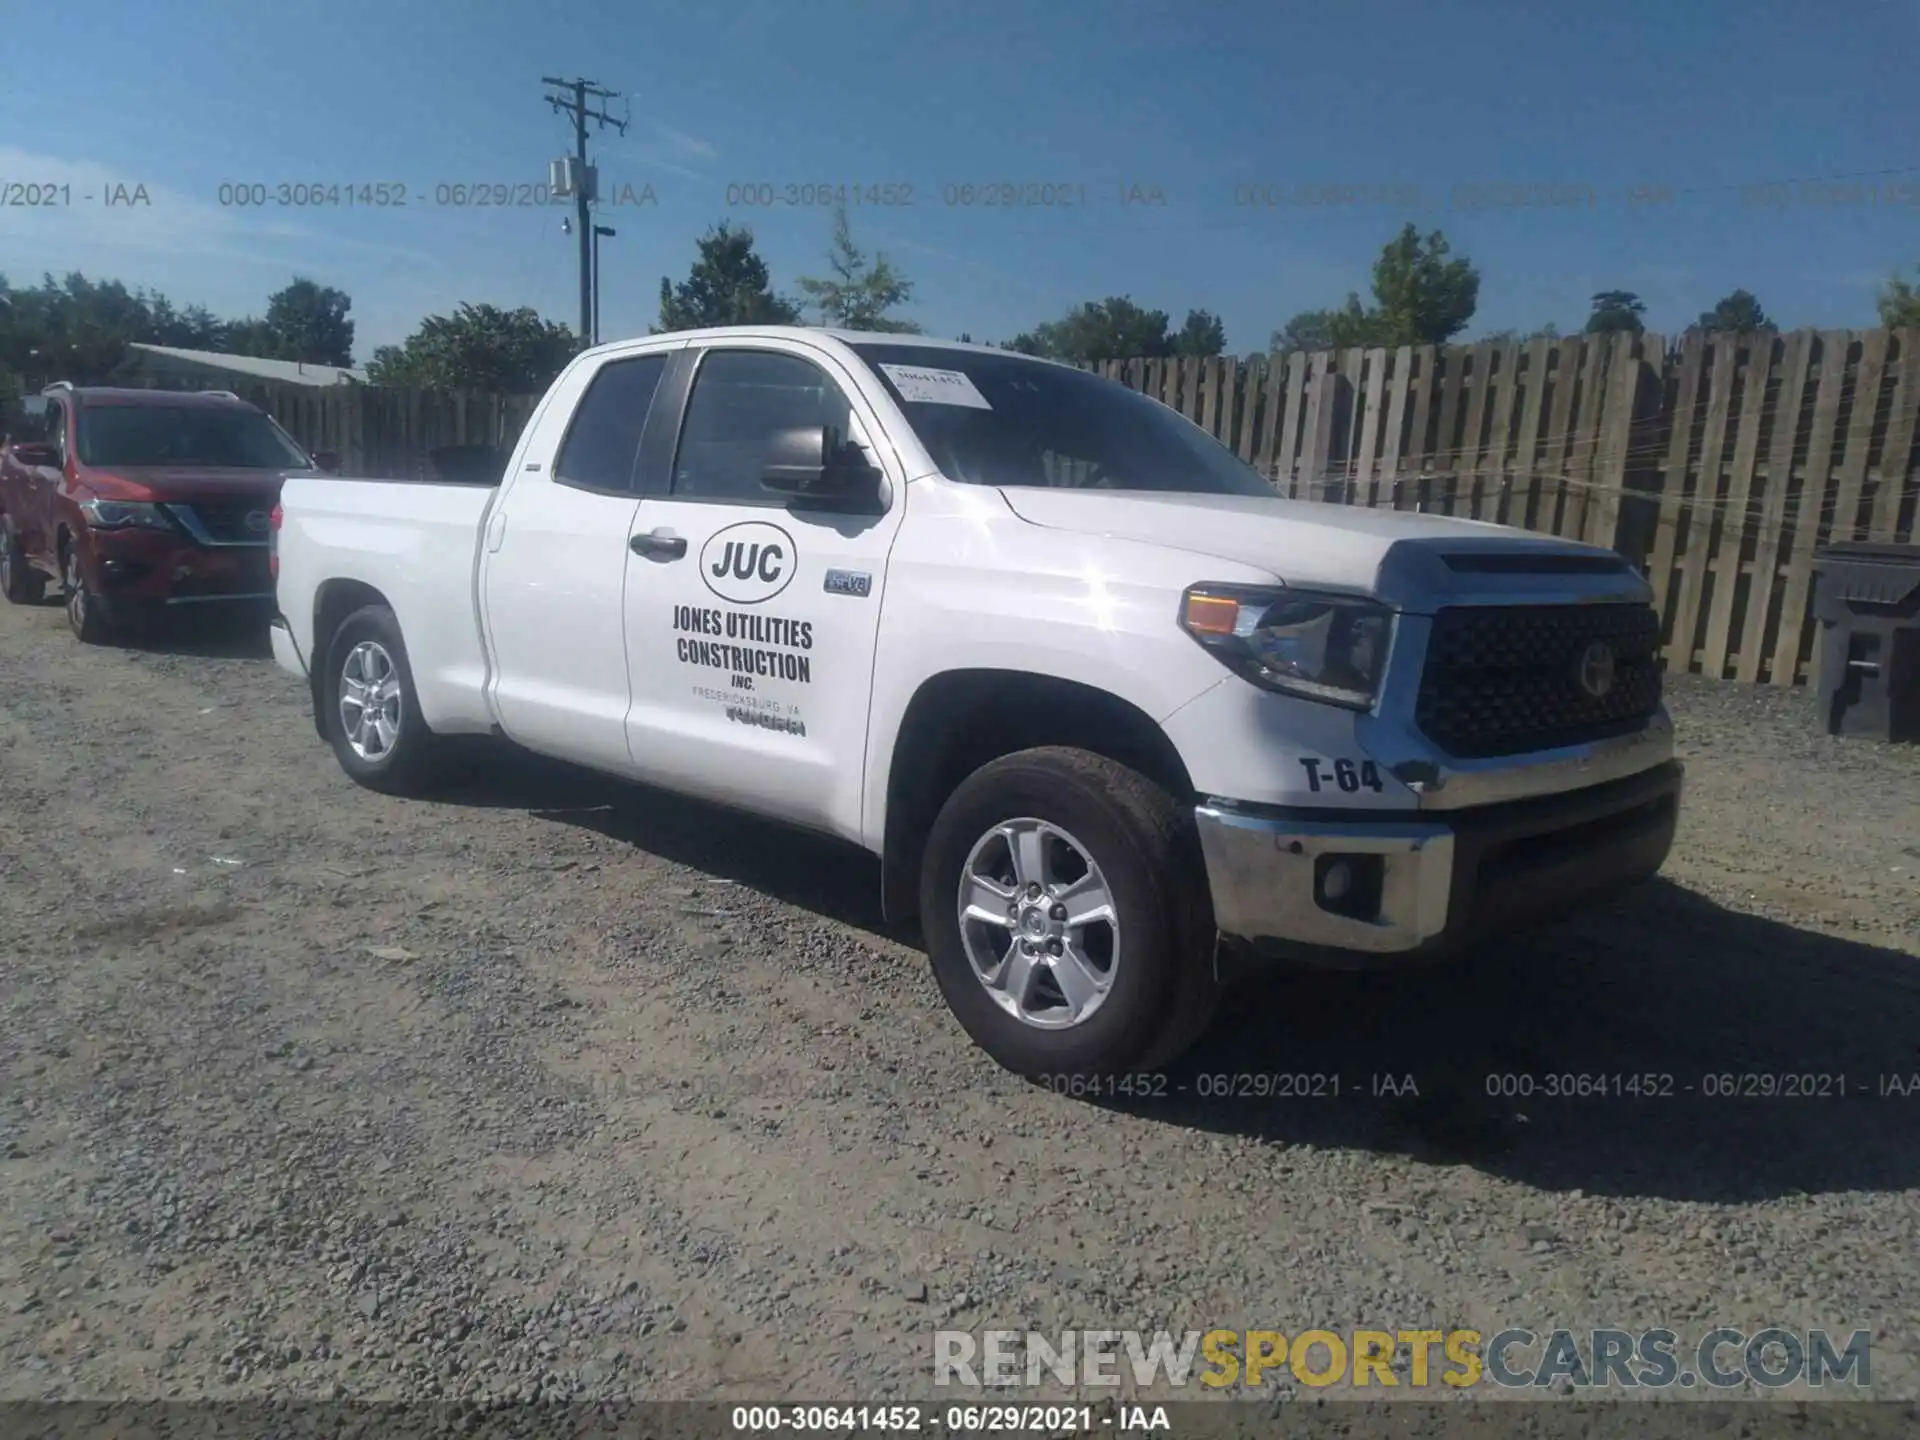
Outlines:
POLYGON ((367 789, 419 795, 442 774, 445 743, 426 728, 399 620, 384 605, 349 614, 326 647, 326 739, 367 789))

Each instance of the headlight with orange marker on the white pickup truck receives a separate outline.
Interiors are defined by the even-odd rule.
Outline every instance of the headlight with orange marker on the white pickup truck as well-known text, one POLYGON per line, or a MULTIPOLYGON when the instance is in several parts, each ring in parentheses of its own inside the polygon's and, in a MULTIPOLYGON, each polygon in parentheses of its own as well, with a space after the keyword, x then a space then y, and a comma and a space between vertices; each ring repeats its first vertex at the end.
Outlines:
POLYGON ((1263 689, 1369 710, 1394 612, 1350 595, 1192 586, 1181 601, 1181 626, 1263 689))

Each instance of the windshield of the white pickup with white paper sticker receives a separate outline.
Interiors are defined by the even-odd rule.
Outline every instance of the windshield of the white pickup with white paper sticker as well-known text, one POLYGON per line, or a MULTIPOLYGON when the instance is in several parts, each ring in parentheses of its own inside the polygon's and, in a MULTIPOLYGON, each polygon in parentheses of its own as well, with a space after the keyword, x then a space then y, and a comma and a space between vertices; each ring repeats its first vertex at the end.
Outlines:
POLYGON ((1273 497, 1206 430, 1087 371, 931 346, 854 349, 950 480, 1273 497))

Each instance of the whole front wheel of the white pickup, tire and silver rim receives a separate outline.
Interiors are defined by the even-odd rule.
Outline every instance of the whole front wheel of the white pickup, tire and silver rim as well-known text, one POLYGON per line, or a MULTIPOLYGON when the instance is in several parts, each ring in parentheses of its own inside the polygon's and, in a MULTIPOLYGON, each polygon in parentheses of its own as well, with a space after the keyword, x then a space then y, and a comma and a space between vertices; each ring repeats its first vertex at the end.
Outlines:
POLYGON ((1217 1002, 1192 816, 1089 751, 975 770, 927 837, 920 914, 954 1018, 1004 1068, 1156 1069, 1217 1002))

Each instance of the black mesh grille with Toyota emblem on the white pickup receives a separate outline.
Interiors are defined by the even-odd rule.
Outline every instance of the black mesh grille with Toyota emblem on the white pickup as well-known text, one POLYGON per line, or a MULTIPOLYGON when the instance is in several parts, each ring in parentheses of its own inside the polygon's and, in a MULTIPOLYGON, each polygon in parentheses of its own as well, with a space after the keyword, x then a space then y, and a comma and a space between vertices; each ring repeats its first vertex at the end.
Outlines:
POLYGON ((1415 720, 1459 758, 1624 735, 1661 705, 1659 649, 1651 605, 1442 609, 1415 720), (1613 684, 1596 697, 1580 678, 1590 659, 1603 660, 1594 651, 1601 643, 1613 657, 1613 684))

